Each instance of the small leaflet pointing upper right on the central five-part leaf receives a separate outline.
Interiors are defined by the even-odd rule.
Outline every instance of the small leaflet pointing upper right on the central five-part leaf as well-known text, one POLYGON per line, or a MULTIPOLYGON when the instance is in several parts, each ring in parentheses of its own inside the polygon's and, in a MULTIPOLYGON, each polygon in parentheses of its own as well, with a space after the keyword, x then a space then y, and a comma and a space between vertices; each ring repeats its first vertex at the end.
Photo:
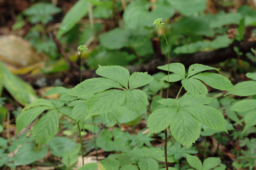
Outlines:
POLYGON ((138 87, 144 86, 153 81, 153 77, 148 74, 148 72, 141 73, 135 72, 129 78, 129 87, 130 90, 136 89, 138 87))

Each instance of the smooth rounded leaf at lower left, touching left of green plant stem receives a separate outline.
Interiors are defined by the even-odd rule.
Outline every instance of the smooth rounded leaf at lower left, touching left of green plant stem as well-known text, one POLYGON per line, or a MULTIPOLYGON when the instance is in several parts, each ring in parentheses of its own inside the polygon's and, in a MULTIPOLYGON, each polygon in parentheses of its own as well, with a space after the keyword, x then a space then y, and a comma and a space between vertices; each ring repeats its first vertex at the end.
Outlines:
POLYGON ((76 142, 67 137, 55 137, 46 145, 49 147, 50 152, 57 157, 63 157, 76 148, 76 142))

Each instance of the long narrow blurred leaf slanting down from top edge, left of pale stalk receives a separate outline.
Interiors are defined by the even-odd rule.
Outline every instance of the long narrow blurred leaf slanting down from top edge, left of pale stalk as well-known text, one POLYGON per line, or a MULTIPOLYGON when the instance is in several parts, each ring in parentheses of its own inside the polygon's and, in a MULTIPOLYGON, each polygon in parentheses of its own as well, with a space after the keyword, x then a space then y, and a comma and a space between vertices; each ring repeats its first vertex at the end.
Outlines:
POLYGON ((59 39, 63 34, 71 30, 87 14, 88 10, 88 2, 86 0, 77 1, 62 19, 57 38, 59 39))

